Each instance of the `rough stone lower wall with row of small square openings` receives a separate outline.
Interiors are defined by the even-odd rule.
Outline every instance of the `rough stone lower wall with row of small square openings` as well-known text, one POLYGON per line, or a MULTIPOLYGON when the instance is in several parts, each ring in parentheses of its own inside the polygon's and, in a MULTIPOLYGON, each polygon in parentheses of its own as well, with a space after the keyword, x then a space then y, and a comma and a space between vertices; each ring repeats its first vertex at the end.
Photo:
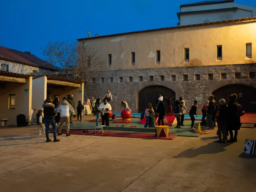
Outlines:
POLYGON ((120 112, 120 101, 125 100, 132 112, 138 112, 138 92, 148 86, 162 85, 176 92, 176 98, 182 96, 188 109, 196 97, 202 97, 202 102, 198 102, 198 114, 201 114, 200 109, 209 94, 222 86, 244 84, 256 88, 256 79, 249 79, 249 72, 255 71, 256 64, 105 71, 101 72, 100 76, 104 78, 104 83, 101 83, 101 78, 97 78, 95 83, 84 85, 84 98, 94 96, 102 99, 106 90, 110 89, 113 96, 110 103, 113 111, 120 112), (235 72, 241 72, 241 79, 235 79, 235 72), (221 73, 226 73, 227 79, 221 79, 221 73), (188 75, 188 81, 183 80, 184 74, 188 75), (200 80, 195 80, 195 74, 200 74, 200 80), (213 74, 213 80, 208 80, 208 74, 213 74), (161 75, 164 75, 164 81, 161 81, 161 75), (172 81, 172 75, 176 75, 176 81, 172 81), (143 81, 139 81, 139 76, 143 76, 143 81), (149 76, 154 76, 154 80, 150 81, 149 76), (119 82, 119 77, 123 78, 122 83, 119 82), (129 82, 129 77, 132 77, 133 82, 129 82))

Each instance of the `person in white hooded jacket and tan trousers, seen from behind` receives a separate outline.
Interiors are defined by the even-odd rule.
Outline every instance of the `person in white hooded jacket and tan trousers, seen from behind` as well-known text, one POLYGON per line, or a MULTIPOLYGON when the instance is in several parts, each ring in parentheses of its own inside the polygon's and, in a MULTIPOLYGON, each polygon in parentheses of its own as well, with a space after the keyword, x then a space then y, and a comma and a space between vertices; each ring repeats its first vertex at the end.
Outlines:
POLYGON ((70 136, 69 134, 69 126, 70 126, 70 112, 73 113, 74 118, 76 118, 76 113, 74 108, 71 106, 70 103, 68 103, 67 98, 64 97, 62 99, 62 102, 57 107, 57 112, 60 112, 60 125, 58 128, 58 135, 62 135, 61 129, 64 124, 66 123, 66 136, 70 136))

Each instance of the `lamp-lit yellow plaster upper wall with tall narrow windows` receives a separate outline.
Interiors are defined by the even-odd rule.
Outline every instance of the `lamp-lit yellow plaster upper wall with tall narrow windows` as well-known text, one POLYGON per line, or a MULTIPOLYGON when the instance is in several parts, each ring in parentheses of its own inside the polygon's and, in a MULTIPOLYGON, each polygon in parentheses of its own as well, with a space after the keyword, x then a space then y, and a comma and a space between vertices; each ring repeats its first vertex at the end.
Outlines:
MULTIPOLYGON (((203 65, 244 64, 256 62, 256 21, 184 29, 162 30, 108 38, 86 40, 107 66, 112 54, 112 67, 108 70, 163 68, 203 65), (252 43, 252 59, 246 59, 246 43, 252 43), (222 45, 222 61, 216 59, 216 46, 222 45), (190 49, 190 60, 184 62, 184 48, 190 49), (156 64, 156 50, 161 51, 160 64, 156 64), (131 65, 131 52, 136 54, 131 65)), ((83 40, 79 41, 82 44, 83 40)))

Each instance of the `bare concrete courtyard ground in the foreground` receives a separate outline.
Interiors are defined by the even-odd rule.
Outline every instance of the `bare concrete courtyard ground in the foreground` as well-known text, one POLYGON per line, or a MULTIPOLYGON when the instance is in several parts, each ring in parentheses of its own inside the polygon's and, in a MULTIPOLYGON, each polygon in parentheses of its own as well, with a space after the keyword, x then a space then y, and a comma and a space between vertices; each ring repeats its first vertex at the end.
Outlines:
POLYGON ((218 144, 209 132, 174 140, 62 135, 46 143, 37 126, 0 128, 0 192, 256 191, 256 156, 242 153, 256 128, 241 128, 234 144, 218 144))

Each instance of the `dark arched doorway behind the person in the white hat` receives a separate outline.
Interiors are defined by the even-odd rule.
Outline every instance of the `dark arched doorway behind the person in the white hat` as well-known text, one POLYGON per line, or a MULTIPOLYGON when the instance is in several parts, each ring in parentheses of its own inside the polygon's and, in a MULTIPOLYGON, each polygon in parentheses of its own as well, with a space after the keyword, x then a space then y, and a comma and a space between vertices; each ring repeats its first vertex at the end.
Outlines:
POLYGON ((164 96, 164 102, 166 106, 166 112, 168 112, 167 108, 167 101, 165 99, 165 96, 168 97, 174 97, 175 100, 175 92, 165 86, 149 86, 144 89, 142 89, 138 96, 138 112, 142 113, 145 111, 147 104, 152 103, 153 107, 157 104, 157 99, 159 94, 164 96))

